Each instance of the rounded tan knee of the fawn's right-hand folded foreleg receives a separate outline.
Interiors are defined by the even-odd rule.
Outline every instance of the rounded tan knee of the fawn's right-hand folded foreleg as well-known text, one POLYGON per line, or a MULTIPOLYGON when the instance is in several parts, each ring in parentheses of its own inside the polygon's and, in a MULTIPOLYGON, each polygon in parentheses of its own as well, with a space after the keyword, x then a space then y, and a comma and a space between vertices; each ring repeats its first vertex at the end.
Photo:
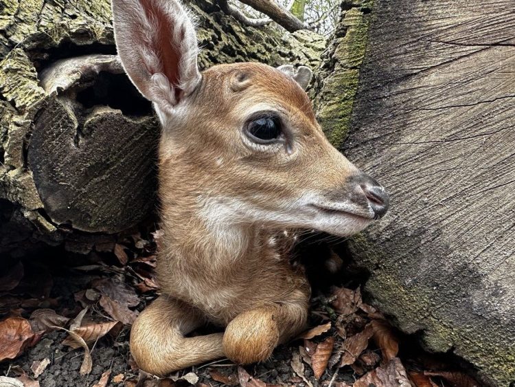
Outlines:
POLYGON ((236 364, 263 362, 278 342, 279 329, 273 313, 260 309, 236 316, 223 337, 225 355, 236 364))

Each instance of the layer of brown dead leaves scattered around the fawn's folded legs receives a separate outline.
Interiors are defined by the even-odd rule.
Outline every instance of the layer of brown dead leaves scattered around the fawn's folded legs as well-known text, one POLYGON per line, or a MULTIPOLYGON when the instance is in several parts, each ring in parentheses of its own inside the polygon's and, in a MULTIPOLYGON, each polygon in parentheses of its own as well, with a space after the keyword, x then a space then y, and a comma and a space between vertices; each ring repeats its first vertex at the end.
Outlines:
POLYGON ((403 355, 405 339, 379 311, 363 302, 360 287, 332 287, 319 293, 312 305, 312 328, 280 346, 264 364, 240 367, 215 362, 168 377, 139 371, 128 354, 128 331, 139 311, 157 295, 154 269, 162 232, 141 235, 100 241, 98 249, 93 248, 72 269, 76 280, 69 294, 74 296, 66 302, 62 294, 52 294, 57 277, 41 269, 41 263, 20 262, 4 271, 0 278, 0 360, 9 365, 5 371, 14 373, 9 379, 39 386, 52 373, 54 362, 68 356, 69 348, 78 350, 73 356, 80 356, 76 372, 83 375, 84 386, 481 386, 442 362, 403 355), (67 337, 50 346, 48 356, 17 365, 16 359, 25 357, 27 349, 47 337, 55 341, 60 337, 56 334, 62 335, 59 332, 67 337), (62 350, 54 357, 56 345, 62 350), (100 364, 103 369, 95 366, 95 351, 110 348, 123 354, 115 368, 114 359, 100 364))

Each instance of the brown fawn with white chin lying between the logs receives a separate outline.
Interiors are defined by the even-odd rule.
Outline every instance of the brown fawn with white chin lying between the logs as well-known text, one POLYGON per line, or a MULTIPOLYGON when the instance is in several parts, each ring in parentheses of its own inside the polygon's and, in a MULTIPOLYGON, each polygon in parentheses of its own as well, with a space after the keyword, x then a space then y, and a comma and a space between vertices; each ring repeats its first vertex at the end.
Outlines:
POLYGON ((305 329, 310 286, 274 236, 348 236, 388 197, 330 145, 304 88, 307 67, 258 63, 201 72, 192 20, 176 0, 113 0, 130 80, 161 122, 162 294, 137 318, 130 351, 144 371, 228 357, 266 360, 305 329), (211 322, 224 333, 186 337, 211 322))

